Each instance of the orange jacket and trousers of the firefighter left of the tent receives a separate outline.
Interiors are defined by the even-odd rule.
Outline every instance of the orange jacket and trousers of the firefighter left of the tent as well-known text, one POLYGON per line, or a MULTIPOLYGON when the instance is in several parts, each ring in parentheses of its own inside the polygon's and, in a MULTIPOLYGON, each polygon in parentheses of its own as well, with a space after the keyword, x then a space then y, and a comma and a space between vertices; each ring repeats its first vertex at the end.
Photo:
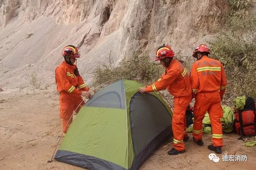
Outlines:
POLYGON ((74 74, 75 68, 76 65, 69 65, 64 61, 55 71, 57 91, 60 92, 60 118, 62 119, 63 133, 67 132, 73 120, 71 117, 73 111, 78 113, 81 106, 84 105, 81 98, 82 91, 89 91, 82 77, 74 74))

